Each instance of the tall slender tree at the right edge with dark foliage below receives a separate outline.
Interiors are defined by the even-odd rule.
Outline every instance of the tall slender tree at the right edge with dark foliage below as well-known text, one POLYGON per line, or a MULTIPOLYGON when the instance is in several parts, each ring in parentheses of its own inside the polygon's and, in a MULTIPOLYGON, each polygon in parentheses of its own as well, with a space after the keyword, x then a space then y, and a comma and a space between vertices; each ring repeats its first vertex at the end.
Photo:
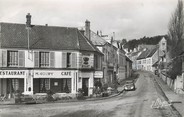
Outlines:
MULTIPOLYGON (((169 45, 169 57, 171 60, 177 58, 182 52, 182 40, 184 36, 184 14, 183 14, 183 2, 178 0, 175 12, 172 14, 169 26, 168 26, 168 45, 169 45)), ((175 79, 177 75, 181 75, 182 72, 181 59, 173 60, 169 75, 175 79)))

